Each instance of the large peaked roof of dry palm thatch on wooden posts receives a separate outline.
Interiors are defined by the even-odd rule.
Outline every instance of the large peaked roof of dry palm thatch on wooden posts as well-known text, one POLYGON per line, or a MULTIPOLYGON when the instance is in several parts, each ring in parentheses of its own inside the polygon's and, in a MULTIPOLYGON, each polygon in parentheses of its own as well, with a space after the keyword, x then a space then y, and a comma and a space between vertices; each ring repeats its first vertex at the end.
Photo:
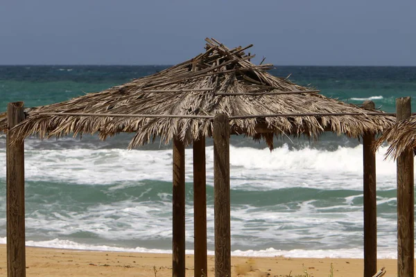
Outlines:
MULTIPOLYGON (((286 78, 271 75, 267 70, 272 64, 252 64, 250 59, 254 55, 244 53, 252 45, 229 49, 215 39, 205 40, 205 53, 164 71, 105 91, 27 109, 26 120, 13 131, 19 138, 37 134, 41 139, 82 133, 96 133, 105 139, 119 132, 134 132, 129 148, 148 143, 155 136, 161 136, 166 142, 178 136, 189 144, 200 136, 211 136, 213 123, 209 117, 223 113, 230 118, 254 116, 232 118, 232 132, 266 139, 272 148, 273 135, 304 134, 317 138, 324 131, 332 131, 358 137, 364 132, 383 132, 395 123, 395 118, 376 115, 381 112, 327 98, 286 78), (368 111, 373 113, 365 114, 368 111), (277 116, 262 116, 265 114, 277 116), (285 114, 291 116, 279 116, 285 114), (163 117, 168 115, 206 118, 163 117)), ((0 129, 5 130, 6 125, 5 114, 0 115, 0 129)))

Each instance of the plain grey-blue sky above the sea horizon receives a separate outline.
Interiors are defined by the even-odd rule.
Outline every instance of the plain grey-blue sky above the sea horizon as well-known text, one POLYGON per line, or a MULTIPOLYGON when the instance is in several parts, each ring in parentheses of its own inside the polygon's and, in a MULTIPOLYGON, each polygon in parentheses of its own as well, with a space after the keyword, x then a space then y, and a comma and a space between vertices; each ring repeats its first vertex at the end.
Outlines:
POLYGON ((177 64, 214 37, 255 63, 416 66, 415 0, 0 2, 0 64, 177 64))

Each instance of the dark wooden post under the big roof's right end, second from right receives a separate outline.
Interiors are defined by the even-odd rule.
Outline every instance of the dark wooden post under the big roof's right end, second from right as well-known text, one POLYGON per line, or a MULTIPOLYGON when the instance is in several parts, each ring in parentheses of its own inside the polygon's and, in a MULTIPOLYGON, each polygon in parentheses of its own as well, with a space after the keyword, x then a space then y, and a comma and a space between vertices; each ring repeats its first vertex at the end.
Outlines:
MULTIPOLYGON (((374 109, 372 101, 363 107, 374 109)), ((364 277, 377 271, 377 204, 376 204, 376 154, 372 151, 375 135, 363 134, 363 184, 364 184, 364 277)))

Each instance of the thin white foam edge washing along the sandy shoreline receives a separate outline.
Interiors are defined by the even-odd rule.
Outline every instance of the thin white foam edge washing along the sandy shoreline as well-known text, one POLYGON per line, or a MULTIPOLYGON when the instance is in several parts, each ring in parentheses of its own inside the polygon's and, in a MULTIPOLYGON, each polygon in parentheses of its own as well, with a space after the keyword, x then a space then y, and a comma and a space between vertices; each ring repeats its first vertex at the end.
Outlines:
MULTIPOLYGON (((5 244, 6 238, 0 238, 0 243, 5 244)), ((89 251, 120 251, 120 252, 137 252, 137 253, 172 253, 171 250, 166 249, 147 249, 144 247, 110 247, 106 245, 91 245, 72 242, 71 240, 46 240, 35 242, 33 240, 26 241, 26 246, 29 247, 49 247, 56 249, 71 249, 71 250, 89 250, 89 251)), ((193 254, 193 250, 186 250, 187 254, 193 254)), ((208 255, 214 255, 214 251, 207 251, 208 255)), ((363 249, 317 249, 317 250, 278 250, 274 248, 262 250, 234 250, 232 256, 245 257, 275 257, 284 256, 290 258, 363 258, 363 249)), ((378 258, 397 258, 395 249, 379 249, 377 253, 378 258)))

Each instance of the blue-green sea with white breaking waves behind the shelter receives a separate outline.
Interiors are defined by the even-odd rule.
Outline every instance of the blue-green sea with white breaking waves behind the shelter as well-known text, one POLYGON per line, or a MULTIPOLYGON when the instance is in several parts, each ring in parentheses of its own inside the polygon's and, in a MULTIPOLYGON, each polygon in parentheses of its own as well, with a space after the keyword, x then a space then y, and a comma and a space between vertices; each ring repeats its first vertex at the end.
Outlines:
MULTIPOLYGON (((168 66, 0 66, 0 111, 8 102, 48 105, 101 91, 168 66)), ((273 75, 324 96, 395 111, 413 97, 416 67, 277 66, 273 75)), ((159 140, 127 150, 132 134, 25 141, 26 244, 35 247, 171 253, 172 149, 159 140)), ((6 136, 0 134, 0 243, 6 243, 6 136)), ((395 161, 376 154, 379 258, 397 257, 395 161)), ((207 140, 207 243, 214 253, 213 146, 207 140)), ((245 136, 230 146, 232 254, 363 257, 363 149, 323 134, 245 136)), ((192 150, 186 150, 186 247, 193 253, 192 150)))

